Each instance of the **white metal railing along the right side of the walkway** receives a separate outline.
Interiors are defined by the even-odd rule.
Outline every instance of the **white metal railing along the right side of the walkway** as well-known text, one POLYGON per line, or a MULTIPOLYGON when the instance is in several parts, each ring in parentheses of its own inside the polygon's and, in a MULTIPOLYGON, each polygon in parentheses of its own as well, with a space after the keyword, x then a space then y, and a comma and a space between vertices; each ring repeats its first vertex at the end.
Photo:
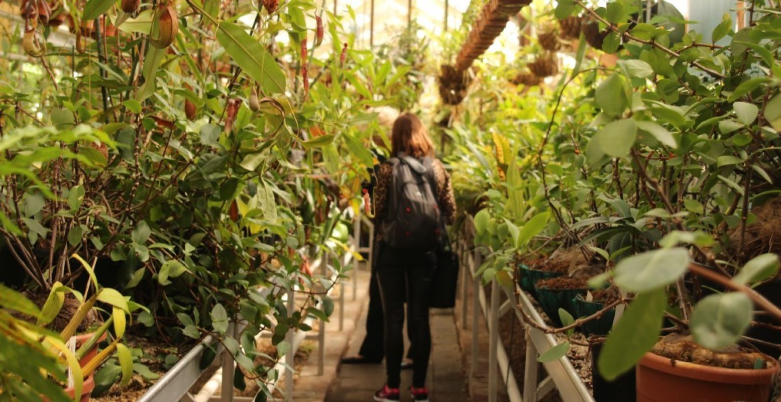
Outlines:
POLYGON ((542 318, 531 303, 529 297, 526 296, 526 293, 521 289, 518 289, 519 285, 517 282, 513 285, 514 288, 506 288, 499 285, 494 279, 490 284, 490 303, 488 303, 485 289, 483 289, 483 285, 480 283, 481 278, 476 275, 476 272, 483 261, 483 253, 480 249, 473 246, 472 239, 474 235, 475 230, 473 221, 468 219, 465 224, 465 230, 462 231, 462 236, 460 236, 456 244, 456 251, 458 252, 458 257, 462 265, 462 286, 460 292, 462 300, 462 328, 467 328, 466 313, 469 305, 467 295, 469 294, 469 285, 472 285, 473 287, 471 303, 473 312, 470 380, 475 375, 477 369, 479 357, 479 317, 482 315, 484 325, 487 325, 489 334, 489 402, 496 402, 497 400, 500 375, 502 379, 506 379, 506 381, 504 381, 504 386, 507 389, 508 398, 511 402, 537 402, 537 400, 545 397, 545 395, 550 393, 553 389, 558 389, 558 393, 565 402, 594 402, 594 397, 592 397, 590 391, 585 384, 583 384, 583 380, 580 379, 580 375, 578 375, 575 368, 572 367, 572 363, 567 357, 562 357, 557 361, 543 363, 548 376, 538 382, 537 368, 540 363, 537 362, 537 357, 539 357, 540 354, 547 352, 547 350, 550 350, 551 347, 556 346, 558 341, 551 334, 542 332, 540 329, 534 328, 531 325, 523 325, 523 336, 526 338, 526 362, 523 389, 521 390, 519 388, 518 383, 515 381, 512 368, 510 367, 505 347, 499 341, 499 318, 512 310, 517 315, 519 322, 523 323, 524 321, 520 309, 537 321, 541 322, 542 318), (505 300, 505 303, 500 304, 500 294, 502 291, 504 291, 507 299, 505 300), (515 297, 516 291, 520 295, 519 300, 515 297))

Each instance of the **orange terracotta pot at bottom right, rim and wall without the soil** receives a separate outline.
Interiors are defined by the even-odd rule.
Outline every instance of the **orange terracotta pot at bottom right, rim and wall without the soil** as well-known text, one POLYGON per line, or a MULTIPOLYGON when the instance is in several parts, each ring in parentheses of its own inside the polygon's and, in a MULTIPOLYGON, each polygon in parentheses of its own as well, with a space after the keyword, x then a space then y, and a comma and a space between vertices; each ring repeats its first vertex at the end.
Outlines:
POLYGON ((637 402, 766 402, 779 362, 747 370, 710 367, 647 353, 637 364, 637 402))

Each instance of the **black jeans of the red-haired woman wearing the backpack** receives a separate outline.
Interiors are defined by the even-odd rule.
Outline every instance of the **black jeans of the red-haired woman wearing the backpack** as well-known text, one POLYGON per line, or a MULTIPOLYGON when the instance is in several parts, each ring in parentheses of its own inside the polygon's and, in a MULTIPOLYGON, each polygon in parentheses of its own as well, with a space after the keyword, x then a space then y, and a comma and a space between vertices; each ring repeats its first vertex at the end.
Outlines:
POLYGON ((377 261, 377 277, 385 313, 385 370, 387 385, 398 388, 401 382, 401 357, 404 354, 405 293, 408 303, 408 327, 415 345, 412 361, 412 386, 426 385, 431 354, 429 293, 437 264, 433 250, 394 249, 383 245, 377 261))

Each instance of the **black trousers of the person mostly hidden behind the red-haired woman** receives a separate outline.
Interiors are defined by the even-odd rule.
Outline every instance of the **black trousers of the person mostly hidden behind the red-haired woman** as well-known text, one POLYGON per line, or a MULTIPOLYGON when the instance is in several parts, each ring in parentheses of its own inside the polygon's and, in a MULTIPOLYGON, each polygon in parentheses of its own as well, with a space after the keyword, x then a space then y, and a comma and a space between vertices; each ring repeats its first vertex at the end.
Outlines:
MULTIPOLYGON (((382 253, 383 242, 375 242, 374 260, 370 261, 372 265, 372 277, 369 278, 369 312, 366 314, 366 336, 361 343, 361 349, 358 354, 369 360, 380 362, 385 357, 385 317, 383 314, 383 300, 380 296, 380 282, 377 280, 377 260, 382 253)), ((410 340, 407 357, 414 357, 414 345, 412 344, 412 327, 407 323, 407 339, 410 340)))

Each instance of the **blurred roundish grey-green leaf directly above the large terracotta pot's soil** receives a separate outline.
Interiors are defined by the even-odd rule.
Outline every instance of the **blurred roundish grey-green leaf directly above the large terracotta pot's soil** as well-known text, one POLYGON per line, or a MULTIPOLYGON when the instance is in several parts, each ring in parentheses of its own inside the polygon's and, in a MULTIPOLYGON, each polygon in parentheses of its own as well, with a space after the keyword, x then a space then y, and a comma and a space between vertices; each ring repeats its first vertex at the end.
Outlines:
POLYGON ((697 343, 720 350, 733 345, 751 323, 751 300, 744 293, 705 296, 691 314, 691 332, 697 343))

